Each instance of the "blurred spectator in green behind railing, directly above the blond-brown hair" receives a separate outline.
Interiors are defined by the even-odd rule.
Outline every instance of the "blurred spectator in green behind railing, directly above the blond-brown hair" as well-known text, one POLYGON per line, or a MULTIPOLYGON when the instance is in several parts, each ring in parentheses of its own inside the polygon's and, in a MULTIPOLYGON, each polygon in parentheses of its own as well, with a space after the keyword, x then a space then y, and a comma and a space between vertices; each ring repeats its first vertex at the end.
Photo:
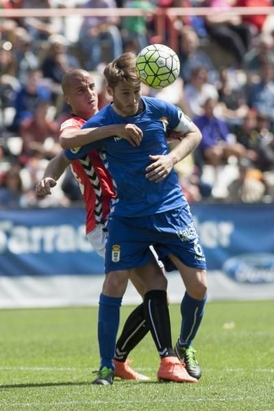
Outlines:
MULTIPOLYGON (((152 11, 153 4, 148 0, 127 0, 124 8, 139 8, 152 11)), ((146 16, 130 16, 123 18, 123 40, 125 45, 132 40, 137 42, 136 53, 149 44, 148 20, 146 16)))

